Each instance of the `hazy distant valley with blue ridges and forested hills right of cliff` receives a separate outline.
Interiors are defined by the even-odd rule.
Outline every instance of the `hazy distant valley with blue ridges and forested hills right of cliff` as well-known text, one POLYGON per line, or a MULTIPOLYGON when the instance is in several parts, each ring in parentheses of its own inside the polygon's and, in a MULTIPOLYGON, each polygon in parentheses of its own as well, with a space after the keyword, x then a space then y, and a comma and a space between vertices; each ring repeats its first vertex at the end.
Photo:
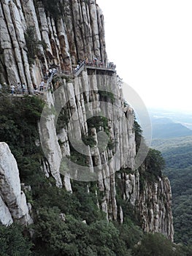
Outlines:
POLYGON ((150 110, 151 147, 161 151, 172 186, 174 240, 192 244, 192 118, 186 113, 150 110))

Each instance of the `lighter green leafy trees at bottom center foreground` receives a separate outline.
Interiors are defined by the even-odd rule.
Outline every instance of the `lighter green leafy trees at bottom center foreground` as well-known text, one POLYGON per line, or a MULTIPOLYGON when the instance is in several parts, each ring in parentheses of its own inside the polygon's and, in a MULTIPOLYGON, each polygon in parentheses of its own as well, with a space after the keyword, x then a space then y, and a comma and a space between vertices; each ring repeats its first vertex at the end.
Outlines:
POLYGON ((128 256, 118 229, 107 220, 87 225, 54 208, 40 208, 34 225, 34 253, 46 256, 128 256))

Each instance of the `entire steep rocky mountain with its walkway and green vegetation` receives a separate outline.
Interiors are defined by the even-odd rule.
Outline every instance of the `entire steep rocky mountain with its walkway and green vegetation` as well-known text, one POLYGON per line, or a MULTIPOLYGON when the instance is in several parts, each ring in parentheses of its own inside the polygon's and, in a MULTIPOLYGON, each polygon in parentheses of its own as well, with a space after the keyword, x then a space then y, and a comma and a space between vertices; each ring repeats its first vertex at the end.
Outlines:
POLYGON ((0 17, 1 254, 180 252, 164 160, 107 61, 96 1, 1 1, 0 17))

